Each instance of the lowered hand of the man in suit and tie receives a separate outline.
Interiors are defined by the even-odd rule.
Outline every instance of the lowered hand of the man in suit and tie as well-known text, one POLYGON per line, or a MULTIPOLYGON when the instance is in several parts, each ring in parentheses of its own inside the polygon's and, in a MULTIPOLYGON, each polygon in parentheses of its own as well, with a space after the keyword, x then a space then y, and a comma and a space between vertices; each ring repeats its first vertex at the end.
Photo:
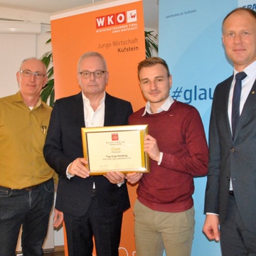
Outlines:
POLYGON ((207 214, 206 221, 203 225, 203 233, 209 240, 220 240, 220 230, 219 230, 219 218, 215 214, 207 214))

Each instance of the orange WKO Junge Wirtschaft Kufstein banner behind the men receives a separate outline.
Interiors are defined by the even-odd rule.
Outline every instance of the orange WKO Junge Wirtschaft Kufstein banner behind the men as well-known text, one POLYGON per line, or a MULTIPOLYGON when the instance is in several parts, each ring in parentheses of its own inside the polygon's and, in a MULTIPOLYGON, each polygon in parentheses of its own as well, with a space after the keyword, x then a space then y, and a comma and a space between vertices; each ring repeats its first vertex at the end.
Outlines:
MULTIPOLYGON (((106 58, 110 72, 106 91, 131 102, 134 111, 145 105, 137 80, 137 65, 145 58, 142 0, 101 1, 52 14, 50 22, 56 99, 80 92, 78 59, 82 53, 97 51, 106 58)), ((136 255, 136 188, 128 186, 132 206, 124 213, 119 256, 136 255)))

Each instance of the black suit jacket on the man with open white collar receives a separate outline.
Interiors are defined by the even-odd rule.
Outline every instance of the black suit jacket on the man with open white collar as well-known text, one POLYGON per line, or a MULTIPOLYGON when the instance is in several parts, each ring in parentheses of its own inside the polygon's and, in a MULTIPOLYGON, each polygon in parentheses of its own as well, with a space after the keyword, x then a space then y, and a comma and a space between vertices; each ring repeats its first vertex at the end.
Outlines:
MULTIPOLYGON (((130 114, 130 102, 106 93, 105 126, 126 125, 130 114)), ((56 100, 43 149, 47 163, 59 174, 55 208, 70 215, 85 215, 92 198, 92 184, 95 182, 102 214, 127 210, 130 205, 126 183, 119 187, 104 176, 66 177, 68 165, 78 157, 83 157, 81 127, 85 127, 82 92, 56 100)))

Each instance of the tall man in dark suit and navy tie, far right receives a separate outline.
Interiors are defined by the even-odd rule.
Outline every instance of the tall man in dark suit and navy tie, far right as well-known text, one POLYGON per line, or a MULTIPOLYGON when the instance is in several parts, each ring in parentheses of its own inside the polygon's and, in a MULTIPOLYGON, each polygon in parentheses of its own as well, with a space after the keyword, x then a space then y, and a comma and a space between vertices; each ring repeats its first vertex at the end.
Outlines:
POLYGON ((238 8, 225 17, 223 44, 234 74, 217 85, 213 97, 203 232, 209 240, 220 240, 223 256, 252 256, 256 255, 255 11, 238 8))

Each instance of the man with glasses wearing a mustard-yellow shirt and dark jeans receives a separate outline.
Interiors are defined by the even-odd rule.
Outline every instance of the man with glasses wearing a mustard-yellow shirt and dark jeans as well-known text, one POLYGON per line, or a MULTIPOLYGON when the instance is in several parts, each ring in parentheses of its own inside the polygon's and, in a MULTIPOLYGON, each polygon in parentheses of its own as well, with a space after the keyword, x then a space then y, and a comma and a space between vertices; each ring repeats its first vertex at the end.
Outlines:
POLYGON ((0 99, 0 255, 15 255, 21 225, 23 255, 43 255, 53 206, 53 169, 43 157, 51 107, 41 101, 46 65, 23 60, 19 91, 0 99))

